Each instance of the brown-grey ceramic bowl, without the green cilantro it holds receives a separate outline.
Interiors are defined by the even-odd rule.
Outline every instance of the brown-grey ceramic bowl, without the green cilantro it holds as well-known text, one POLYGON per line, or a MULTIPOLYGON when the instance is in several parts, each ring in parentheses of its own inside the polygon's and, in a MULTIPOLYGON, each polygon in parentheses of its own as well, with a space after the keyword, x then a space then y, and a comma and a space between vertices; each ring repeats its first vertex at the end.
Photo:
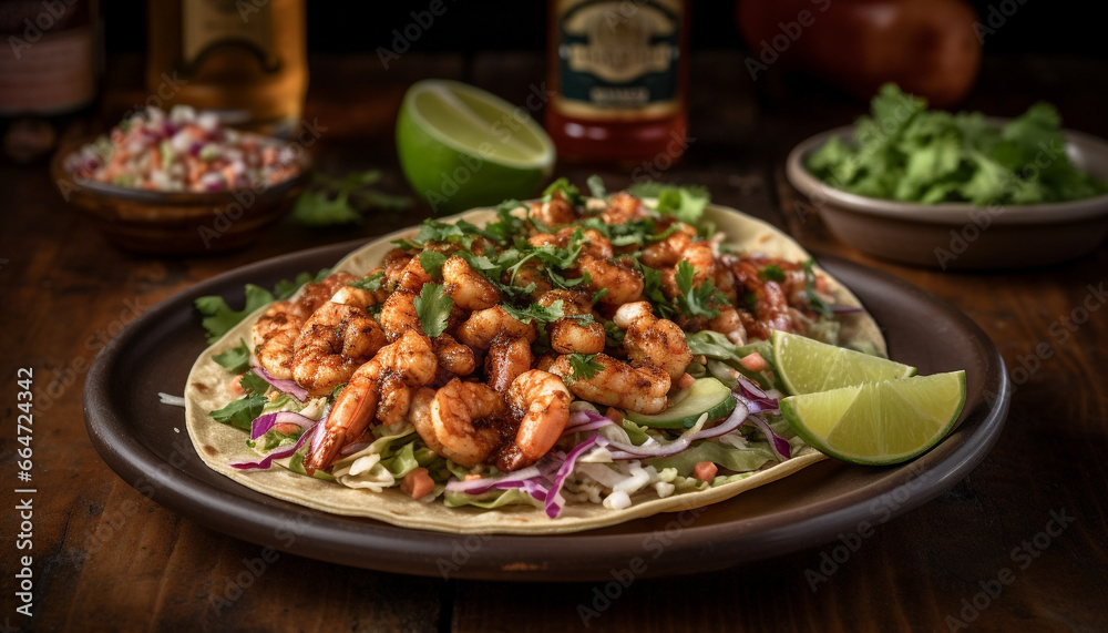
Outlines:
MULTIPOLYGON (((834 188, 804 164, 829 139, 850 141, 852 132, 847 125, 803 141, 789 153, 786 174, 835 237, 878 257, 944 270, 1045 266, 1095 251, 1108 234, 1108 194, 1066 203, 974 206, 905 203, 834 188)), ((1108 181, 1108 142, 1064 132, 1069 160, 1108 181)))

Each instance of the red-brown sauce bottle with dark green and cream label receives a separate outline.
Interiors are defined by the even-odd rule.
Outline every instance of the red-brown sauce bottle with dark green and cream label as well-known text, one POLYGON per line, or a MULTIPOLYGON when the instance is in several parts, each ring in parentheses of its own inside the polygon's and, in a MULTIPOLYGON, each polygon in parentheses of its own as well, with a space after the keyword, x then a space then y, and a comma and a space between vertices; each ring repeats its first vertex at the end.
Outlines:
POLYGON ((666 169, 687 146, 689 0, 548 0, 558 160, 666 169))

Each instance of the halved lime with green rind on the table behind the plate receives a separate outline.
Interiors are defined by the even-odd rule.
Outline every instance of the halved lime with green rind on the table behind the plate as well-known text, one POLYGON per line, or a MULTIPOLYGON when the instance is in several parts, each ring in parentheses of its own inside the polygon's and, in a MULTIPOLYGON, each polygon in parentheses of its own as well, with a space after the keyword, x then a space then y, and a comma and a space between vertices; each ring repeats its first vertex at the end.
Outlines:
POLYGON ((522 108, 456 81, 412 84, 397 116, 409 184, 435 213, 526 198, 554 171, 554 143, 522 108))

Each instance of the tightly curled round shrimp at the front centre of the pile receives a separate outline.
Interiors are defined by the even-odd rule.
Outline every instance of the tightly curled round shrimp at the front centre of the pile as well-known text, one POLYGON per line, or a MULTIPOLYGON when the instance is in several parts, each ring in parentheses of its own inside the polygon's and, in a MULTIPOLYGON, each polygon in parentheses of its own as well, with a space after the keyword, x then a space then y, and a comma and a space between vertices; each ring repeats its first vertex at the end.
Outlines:
POLYGON ((421 389, 412 402, 411 421, 428 448, 454 463, 483 462, 500 445, 504 397, 481 382, 454 378, 433 396, 421 389))

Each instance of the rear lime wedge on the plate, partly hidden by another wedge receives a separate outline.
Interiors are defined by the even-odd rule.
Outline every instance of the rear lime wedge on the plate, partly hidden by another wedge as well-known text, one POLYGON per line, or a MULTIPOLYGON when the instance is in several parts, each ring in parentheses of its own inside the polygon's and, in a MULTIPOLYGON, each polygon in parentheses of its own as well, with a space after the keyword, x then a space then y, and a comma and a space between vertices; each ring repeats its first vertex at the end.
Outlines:
POLYGON ((771 341, 777 377, 794 396, 915 375, 915 367, 798 334, 774 330, 771 341))

